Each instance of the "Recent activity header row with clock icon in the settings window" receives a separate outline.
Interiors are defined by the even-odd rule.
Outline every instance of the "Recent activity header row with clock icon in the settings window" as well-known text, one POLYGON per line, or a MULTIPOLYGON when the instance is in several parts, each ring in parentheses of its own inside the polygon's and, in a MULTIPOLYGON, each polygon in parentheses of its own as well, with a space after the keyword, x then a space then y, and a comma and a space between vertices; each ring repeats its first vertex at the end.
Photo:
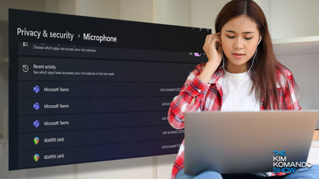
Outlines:
POLYGON ((19 81, 184 82, 196 65, 19 57, 18 66, 19 81))

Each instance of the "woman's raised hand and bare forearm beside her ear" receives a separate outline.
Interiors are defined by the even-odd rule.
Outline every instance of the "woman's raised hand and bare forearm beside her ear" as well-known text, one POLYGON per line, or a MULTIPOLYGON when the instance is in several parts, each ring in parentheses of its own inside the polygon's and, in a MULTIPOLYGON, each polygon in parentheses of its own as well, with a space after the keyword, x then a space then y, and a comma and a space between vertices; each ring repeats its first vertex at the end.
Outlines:
POLYGON ((211 76, 218 68, 222 56, 221 56, 221 38, 219 37, 220 32, 215 34, 209 34, 206 36, 206 40, 203 46, 203 50, 208 58, 208 62, 205 65, 204 70, 198 76, 199 79, 208 84, 211 76), (218 49, 216 50, 215 43, 218 42, 218 49))

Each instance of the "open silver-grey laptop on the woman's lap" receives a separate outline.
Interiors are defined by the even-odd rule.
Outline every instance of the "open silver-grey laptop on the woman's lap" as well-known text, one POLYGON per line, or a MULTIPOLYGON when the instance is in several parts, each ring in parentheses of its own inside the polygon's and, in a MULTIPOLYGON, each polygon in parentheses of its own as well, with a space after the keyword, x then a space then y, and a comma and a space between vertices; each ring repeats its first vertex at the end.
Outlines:
POLYGON ((307 162, 318 110, 185 112, 184 172, 272 172, 273 151, 307 162))

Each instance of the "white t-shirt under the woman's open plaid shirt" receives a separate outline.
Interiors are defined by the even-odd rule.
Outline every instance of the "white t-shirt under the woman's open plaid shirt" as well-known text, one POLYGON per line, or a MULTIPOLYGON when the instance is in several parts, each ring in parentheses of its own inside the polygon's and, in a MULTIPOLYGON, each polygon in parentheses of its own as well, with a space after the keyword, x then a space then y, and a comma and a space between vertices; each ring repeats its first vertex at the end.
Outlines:
POLYGON ((248 73, 225 72, 227 79, 223 75, 220 83, 223 91, 221 111, 260 111, 260 99, 256 99, 255 89, 249 95, 253 81, 248 73))

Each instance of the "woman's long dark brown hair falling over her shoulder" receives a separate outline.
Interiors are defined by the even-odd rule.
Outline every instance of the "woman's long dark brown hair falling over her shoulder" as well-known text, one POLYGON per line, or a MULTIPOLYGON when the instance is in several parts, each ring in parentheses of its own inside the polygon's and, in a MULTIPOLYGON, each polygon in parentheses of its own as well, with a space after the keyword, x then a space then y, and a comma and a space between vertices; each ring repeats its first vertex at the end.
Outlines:
MULTIPOLYGON (((284 66, 275 57, 266 17, 259 5, 253 0, 229 1, 216 17, 215 32, 221 32, 221 28, 226 22, 240 15, 245 15, 256 22, 259 34, 262 36, 262 41, 257 46, 254 64, 250 70, 250 77, 253 81, 251 92, 254 88, 256 89, 256 98, 260 95, 260 97, 264 99, 265 109, 282 109, 282 105, 280 105, 281 103, 279 101, 280 94, 277 89, 277 83, 279 84, 281 91, 284 92, 284 86, 281 83, 282 78, 284 77, 287 84, 290 81, 286 78, 280 67, 284 66), (276 71, 280 73, 276 73, 276 71), (273 94, 275 94, 274 97, 271 97, 273 94)), ((223 64, 221 63, 219 67, 222 65, 223 64)), ((225 61, 225 65, 227 65, 227 61, 225 61)), ((247 69, 249 69, 251 65, 252 58, 247 62, 247 69)), ((293 83, 295 85, 296 93, 299 96, 298 86, 294 80, 293 83)), ((299 99, 299 97, 297 99, 299 99)))

